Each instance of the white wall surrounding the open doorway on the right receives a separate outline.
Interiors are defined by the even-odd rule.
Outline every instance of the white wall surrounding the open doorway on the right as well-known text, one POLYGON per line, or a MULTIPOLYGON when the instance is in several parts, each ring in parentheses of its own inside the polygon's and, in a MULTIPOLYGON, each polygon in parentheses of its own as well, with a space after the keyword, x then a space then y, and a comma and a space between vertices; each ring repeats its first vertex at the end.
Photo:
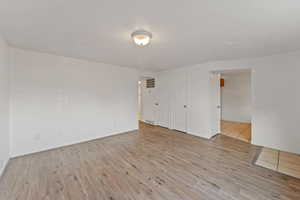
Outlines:
MULTIPOLYGON (((187 132, 206 138, 212 136, 211 71, 251 69, 252 143, 300 153, 299 65, 300 52, 295 52, 256 59, 209 62, 184 68, 188 74, 187 132)), ((169 76, 172 71, 160 74, 169 76)))

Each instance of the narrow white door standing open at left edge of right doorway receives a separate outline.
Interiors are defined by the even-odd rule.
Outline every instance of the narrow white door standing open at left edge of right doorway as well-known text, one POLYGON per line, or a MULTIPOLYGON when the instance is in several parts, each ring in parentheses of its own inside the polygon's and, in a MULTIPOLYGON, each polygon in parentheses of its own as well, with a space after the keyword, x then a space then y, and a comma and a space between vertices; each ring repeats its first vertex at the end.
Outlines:
POLYGON ((219 73, 210 74, 210 102, 211 102, 211 136, 221 133, 221 75, 219 73))

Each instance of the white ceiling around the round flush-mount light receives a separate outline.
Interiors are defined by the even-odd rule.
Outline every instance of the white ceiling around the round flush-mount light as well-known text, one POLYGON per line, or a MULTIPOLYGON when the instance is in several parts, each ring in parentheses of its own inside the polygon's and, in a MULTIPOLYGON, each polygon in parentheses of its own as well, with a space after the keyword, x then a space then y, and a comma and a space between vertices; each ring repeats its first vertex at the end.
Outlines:
POLYGON ((158 71, 300 49, 299 0, 0 0, 10 45, 158 71), (136 47, 136 29, 153 34, 136 47))

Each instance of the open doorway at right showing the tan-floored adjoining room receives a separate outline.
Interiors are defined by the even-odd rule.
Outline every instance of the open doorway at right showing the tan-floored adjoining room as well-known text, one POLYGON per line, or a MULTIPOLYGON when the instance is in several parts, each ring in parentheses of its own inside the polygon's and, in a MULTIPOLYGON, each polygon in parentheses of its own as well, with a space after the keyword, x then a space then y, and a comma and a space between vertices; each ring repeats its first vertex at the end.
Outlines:
POLYGON ((251 142, 251 71, 220 73, 221 134, 251 142))

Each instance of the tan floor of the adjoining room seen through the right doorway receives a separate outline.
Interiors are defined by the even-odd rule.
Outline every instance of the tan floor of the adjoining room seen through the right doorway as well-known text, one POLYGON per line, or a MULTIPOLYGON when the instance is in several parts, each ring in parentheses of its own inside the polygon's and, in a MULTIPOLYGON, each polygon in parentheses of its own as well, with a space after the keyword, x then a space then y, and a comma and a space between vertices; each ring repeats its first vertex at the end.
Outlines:
POLYGON ((251 123, 221 120, 221 133, 244 142, 251 142, 251 123))

